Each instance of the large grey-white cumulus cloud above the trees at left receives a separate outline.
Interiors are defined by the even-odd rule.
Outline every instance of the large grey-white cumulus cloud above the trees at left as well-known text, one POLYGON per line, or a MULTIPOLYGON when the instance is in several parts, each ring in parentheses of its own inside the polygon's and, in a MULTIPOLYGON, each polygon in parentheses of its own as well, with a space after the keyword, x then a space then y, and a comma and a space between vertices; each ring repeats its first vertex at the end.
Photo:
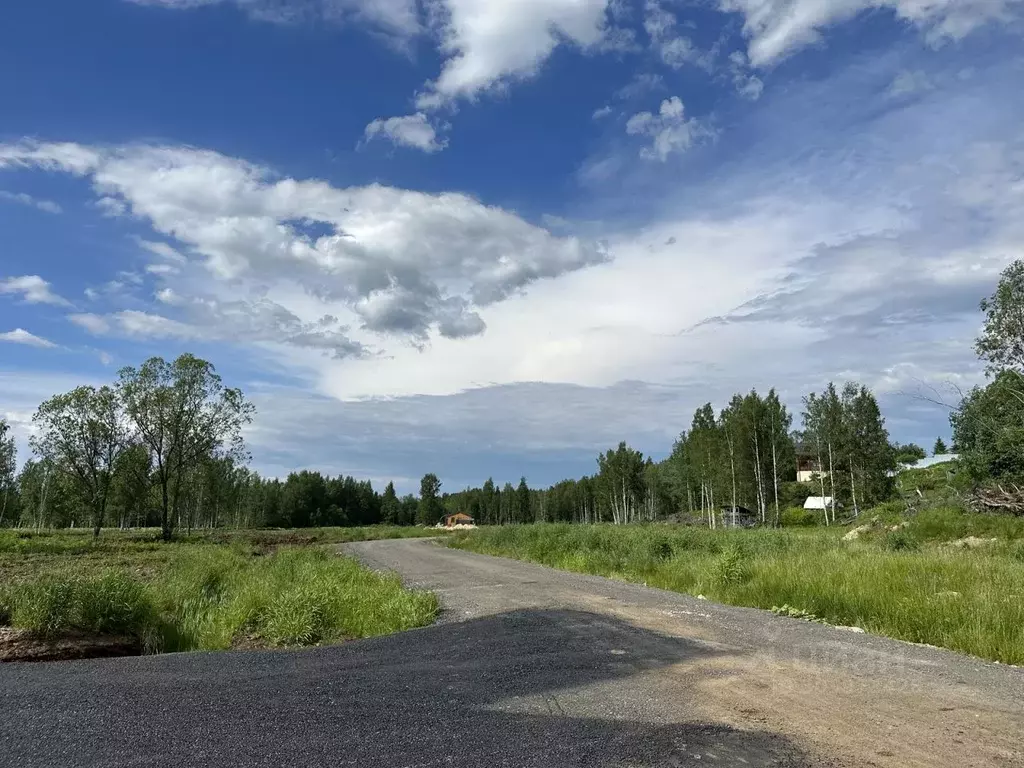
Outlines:
MULTIPOLYGON (((362 342, 348 339, 342 328, 309 328, 307 319, 286 316, 282 306, 261 297, 261 287, 296 286, 307 299, 346 310, 346 328, 420 343, 432 330, 447 338, 481 333, 478 308, 607 258, 597 244, 555 237, 465 195, 380 184, 337 188, 280 178, 211 152, 23 142, 0 145, 4 165, 87 176, 97 195, 121 201, 157 232, 187 247, 215 285, 224 287, 224 295, 205 297, 216 302, 215 308, 209 303, 185 307, 189 314, 180 322, 188 328, 220 324, 237 338, 273 338, 300 347, 312 347, 318 335, 323 345, 341 354, 361 350, 362 342), (310 224, 323 232, 310 234, 310 224), (230 302, 225 296, 242 298, 230 302), (264 326, 273 333, 258 330, 264 326)), ((169 255, 161 246, 148 250, 169 255)), ((174 254, 180 264, 184 257, 177 250, 174 254)), ((195 266, 194 261, 184 266, 195 266)), ((188 283, 188 278, 181 279, 188 283)), ((23 283, 12 285, 42 296, 45 284, 18 280, 23 283)), ((202 294, 201 286, 208 283, 193 275, 191 294, 202 294)), ((99 323, 133 335, 146 329, 155 335, 170 332, 166 325, 129 328, 123 316, 78 315, 75 322, 97 333, 104 332, 99 323)))

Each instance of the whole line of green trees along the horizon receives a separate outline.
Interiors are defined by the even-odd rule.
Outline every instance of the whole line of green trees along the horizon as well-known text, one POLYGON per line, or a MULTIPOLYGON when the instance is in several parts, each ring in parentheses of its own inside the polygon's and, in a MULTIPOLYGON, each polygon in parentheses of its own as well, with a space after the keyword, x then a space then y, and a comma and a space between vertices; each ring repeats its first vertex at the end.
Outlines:
MULTIPOLYGON (((1024 262, 1010 265, 982 302, 976 350, 988 381, 950 409, 952 450, 966 477, 1004 492, 1024 479, 1024 262)), ((102 387, 78 387, 40 404, 32 456, 18 467, 0 420, 0 526, 215 527, 433 525, 465 512, 482 524, 629 523, 672 519, 716 527, 729 511, 765 525, 808 522, 808 497, 830 498, 820 519, 834 524, 890 500, 895 471, 923 458, 890 440, 870 389, 826 383, 794 413, 775 389, 737 393, 697 408, 667 458, 626 442, 596 457, 595 472, 550 487, 488 478, 444 493, 433 473, 418 496, 398 496, 350 476, 297 471, 262 477, 248 467, 243 432, 254 415, 212 364, 185 354, 126 368, 102 387), (816 470, 797 481, 798 463, 816 470)), ((936 439, 934 453, 946 445, 936 439)), ((1008 502, 1013 510, 1024 504, 1008 502), (1015 507, 1014 505, 1020 505, 1015 507)))

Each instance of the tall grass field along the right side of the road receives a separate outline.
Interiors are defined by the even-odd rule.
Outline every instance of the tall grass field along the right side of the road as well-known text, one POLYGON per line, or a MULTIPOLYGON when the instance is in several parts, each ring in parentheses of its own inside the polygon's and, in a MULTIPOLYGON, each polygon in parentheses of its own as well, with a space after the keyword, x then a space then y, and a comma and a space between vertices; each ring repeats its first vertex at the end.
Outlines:
POLYGON ((847 530, 540 524, 450 545, 1024 664, 1024 520, 935 510, 847 530), (998 541, 951 544, 968 536, 998 541))

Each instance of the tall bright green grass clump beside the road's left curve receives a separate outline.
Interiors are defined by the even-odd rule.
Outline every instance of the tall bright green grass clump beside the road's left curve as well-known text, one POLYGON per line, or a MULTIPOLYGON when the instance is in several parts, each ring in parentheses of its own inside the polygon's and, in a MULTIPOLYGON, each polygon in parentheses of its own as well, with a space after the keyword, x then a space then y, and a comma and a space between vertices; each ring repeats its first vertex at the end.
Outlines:
POLYGON ((0 590, 13 627, 128 634, 153 651, 314 645, 421 627, 436 611, 434 595, 319 549, 191 547, 150 584, 110 570, 0 590))

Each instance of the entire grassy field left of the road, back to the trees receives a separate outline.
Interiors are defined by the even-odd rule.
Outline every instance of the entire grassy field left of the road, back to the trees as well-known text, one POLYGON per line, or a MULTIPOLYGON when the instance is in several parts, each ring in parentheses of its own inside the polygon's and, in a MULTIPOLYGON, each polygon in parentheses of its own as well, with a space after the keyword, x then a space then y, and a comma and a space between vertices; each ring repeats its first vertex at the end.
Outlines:
POLYGON ((129 635, 148 652, 300 646, 430 624, 437 600, 318 546, 417 528, 0 531, 0 626, 129 635))

